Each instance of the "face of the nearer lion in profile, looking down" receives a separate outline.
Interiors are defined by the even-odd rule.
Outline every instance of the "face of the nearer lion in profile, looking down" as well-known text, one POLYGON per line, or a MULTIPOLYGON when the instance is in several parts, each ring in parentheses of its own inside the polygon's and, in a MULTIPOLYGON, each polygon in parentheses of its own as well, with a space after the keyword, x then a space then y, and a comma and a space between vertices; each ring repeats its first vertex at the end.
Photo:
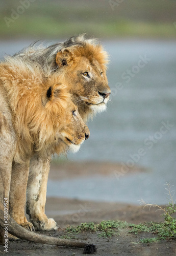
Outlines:
POLYGON ((60 138, 68 146, 68 150, 76 153, 89 136, 89 129, 83 122, 77 106, 70 100, 65 111, 65 123, 60 131, 60 138))

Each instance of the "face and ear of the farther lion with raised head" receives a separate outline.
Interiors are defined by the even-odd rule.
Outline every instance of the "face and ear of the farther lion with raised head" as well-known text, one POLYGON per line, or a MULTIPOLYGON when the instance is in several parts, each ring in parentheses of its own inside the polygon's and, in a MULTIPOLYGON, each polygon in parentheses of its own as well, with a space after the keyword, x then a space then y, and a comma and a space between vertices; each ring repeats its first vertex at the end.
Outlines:
POLYGON ((105 52, 100 47, 94 48, 67 49, 56 55, 56 63, 65 73, 69 91, 84 120, 90 112, 104 111, 111 93, 106 76, 105 52))

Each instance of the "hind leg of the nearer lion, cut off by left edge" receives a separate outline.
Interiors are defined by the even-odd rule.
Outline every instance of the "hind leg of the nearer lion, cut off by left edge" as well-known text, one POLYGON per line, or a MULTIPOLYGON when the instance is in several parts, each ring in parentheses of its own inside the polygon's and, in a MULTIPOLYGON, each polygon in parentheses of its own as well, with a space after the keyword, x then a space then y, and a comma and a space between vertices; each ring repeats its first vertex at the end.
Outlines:
POLYGON ((0 244, 2 245, 8 239, 4 228, 8 229, 9 194, 15 147, 16 136, 10 110, 0 93, 0 244))

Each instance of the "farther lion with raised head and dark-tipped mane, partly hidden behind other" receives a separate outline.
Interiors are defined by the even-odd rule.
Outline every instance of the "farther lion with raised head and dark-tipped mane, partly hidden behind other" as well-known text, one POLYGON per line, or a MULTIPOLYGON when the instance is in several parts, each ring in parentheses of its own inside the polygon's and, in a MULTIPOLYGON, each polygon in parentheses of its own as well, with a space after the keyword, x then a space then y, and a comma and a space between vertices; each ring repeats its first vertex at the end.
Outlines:
MULTIPOLYGON (((85 35, 74 36, 46 48, 34 43, 13 56, 16 57, 32 67, 38 67, 46 77, 62 74, 84 122, 106 110, 111 93, 106 76, 108 54, 96 39, 86 39, 85 35)), ((43 160, 38 155, 31 158, 27 214, 35 229, 42 231, 58 228, 57 223, 48 220, 44 213, 48 170, 49 160, 43 160), (39 196, 42 187, 43 194, 39 196)), ((14 198, 12 193, 11 196, 14 198)))

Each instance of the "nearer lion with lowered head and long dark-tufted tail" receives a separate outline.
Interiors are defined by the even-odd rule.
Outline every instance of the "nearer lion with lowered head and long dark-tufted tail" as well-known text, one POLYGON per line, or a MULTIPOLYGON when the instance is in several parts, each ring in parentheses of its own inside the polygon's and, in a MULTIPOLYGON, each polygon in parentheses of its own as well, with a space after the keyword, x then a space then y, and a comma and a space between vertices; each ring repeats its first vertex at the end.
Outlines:
MULTIPOLYGON (((87 246, 83 242, 40 237, 22 228, 33 230, 24 215, 30 159, 34 155, 41 160, 50 159, 52 154, 67 150, 77 152, 90 135, 71 100, 64 77, 43 78, 37 67, 32 69, 19 58, 7 57, 0 65, 0 87, 1 231, 5 224, 3 203, 9 201, 12 193, 14 198, 10 197, 8 216, 8 231, 12 235, 39 243, 87 246)), ((42 196, 41 191, 39 197, 42 196)), ((49 219, 48 222, 55 221, 49 219)), ((3 242, 3 232, 0 238, 3 242)))

